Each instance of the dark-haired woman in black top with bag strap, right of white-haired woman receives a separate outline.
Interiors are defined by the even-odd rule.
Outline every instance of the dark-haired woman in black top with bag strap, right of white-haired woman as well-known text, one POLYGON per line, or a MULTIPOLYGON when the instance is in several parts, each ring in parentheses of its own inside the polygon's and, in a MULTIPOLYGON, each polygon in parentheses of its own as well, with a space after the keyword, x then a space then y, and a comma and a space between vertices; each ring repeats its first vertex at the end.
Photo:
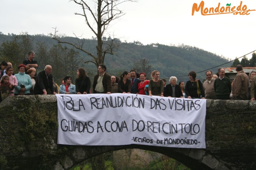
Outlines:
POLYGON ((205 99, 203 84, 200 80, 196 80, 196 76, 197 74, 194 71, 188 73, 188 78, 190 79, 190 81, 186 82, 185 93, 187 95, 187 98, 200 98, 200 96, 202 96, 202 99, 205 99), (199 89, 201 91, 200 95, 197 94, 197 81, 199 89))

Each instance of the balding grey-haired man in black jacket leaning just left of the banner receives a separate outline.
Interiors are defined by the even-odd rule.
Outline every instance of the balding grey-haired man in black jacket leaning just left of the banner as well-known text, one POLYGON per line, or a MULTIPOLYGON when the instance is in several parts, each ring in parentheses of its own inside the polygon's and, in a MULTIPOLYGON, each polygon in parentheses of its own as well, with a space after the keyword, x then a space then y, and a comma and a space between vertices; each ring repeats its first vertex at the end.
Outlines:
POLYGON ((33 89, 34 94, 56 94, 53 90, 53 78, 51 72, 52 67, 50 65, 46 65, 44 70, 38 73, 36 84, 33 89))

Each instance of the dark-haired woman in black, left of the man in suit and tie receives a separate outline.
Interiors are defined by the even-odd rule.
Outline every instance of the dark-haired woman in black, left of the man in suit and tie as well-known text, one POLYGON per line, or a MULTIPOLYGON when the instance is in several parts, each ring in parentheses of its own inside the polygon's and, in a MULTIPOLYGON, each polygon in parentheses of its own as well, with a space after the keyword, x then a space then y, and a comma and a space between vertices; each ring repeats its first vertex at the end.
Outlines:
POLYGON ((118 92, 119 93, 131 93, 132 82, 130 80, 130 73, 124 71, 118 81, 118 92))

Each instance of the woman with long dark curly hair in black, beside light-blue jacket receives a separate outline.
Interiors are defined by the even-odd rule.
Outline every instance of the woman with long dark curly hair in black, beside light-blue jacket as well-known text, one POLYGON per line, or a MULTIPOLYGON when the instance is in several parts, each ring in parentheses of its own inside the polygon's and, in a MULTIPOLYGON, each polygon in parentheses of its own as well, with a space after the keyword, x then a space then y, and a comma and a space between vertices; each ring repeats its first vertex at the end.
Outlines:
POLYGON ((76 78, 76 93, 77 94, 90 94, 91 81, 87 76, 85 69, 77 69, 76 78))

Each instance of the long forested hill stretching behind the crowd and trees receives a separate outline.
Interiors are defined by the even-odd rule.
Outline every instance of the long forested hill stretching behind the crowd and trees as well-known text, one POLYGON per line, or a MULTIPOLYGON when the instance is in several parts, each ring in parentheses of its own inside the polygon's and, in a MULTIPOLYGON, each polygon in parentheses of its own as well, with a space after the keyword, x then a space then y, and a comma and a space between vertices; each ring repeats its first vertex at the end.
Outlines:
MULTIPOLYGON (((7 47, 3 47, 2 43, 10 43, 14 41, 15 37, 18 37, 20 35, 10 34, 10 35, 4 35, 0 34, 0 46, 1 50, 7 51, 8 49, 5 49, 7 47)), ((28 35, 26 34, 26 37, 32 41, 32 50, 35 51, 36 56, 35 60, 39 60, 39 46, 44 45, 45 50, 47 51, 47 54, 49 54, 50 57, 48 57, 48 60, 52 60, 52 53, 53 53, 53 46, 57 46, 57 41, 53 40, 51 37, 46 35, 28 35), (37 51, 38 50, 38 51, 37 51)), ((72 37, 63 37, 63 41, 69 41, 69 42, 77 42, 76 38, 72 37)), ((18 40, 17 40, 18 41, 18 40)), ((20 40, 19 40, 20 41, 20 40)), ((161 44, 150 44, 150 45, 142 45, 140 42, 121 42, 118 40, 121 46, 119 46, 118 50, 114 53, 114 55, 106 55, 104 63, 107 66, 107 72, 112 75, 120 75, 123 71, 133 68, 133 64, 136 61, 139 61, 143 58, 147 59, 149 61, 149 64, 152 66, 152 70, 159 70, 160 71, 160 78, 168 78, 170 76, 177 76, 178 81, 186 81, 187 75, 190 71, 200 72, 215 66, 218 66, 220 64, 228 62, 228 59, 218 56, 216 54, 207 52, 203 49, 197 48, 197 47, 191 47, 187 45, 179 45, 179 46, 167 46, 167 45, 161 45, 161 44), (179 77, 184 76, 184 77, 179 77)), ((170 41, 171 43, 171 41, 170 41)), ((72 46, 68 44, 61 44, 64 48, 65 46, 67 48, 73 48, 72 46)), ((85 39, 83 48, 95 56, 96 53, 96 45, 97 40, 95 38, 92 39, 85 39)), ((14 53, 14 52, 13 52, 14 53)), ((15 52, 17 53, 17 52, 15 52)), ((26 53, 24 53, 25 55, 26 53)), ((6 57, 4 55, 7 55, 6 53, 1 53, 1 58, 6 57)), ((27 57, 22 56, 21 59, 27 57)), ((46 55, 46 53, 45 53, 46 55)), ((40 57, 41 60, 42 56, 40 57)), ((79 55, 77 56, 77 60, 80 61, 87 61, 92 60, 92 58, 83 52, 79 52, 79 55)), ((2 60, 2 59, 1 59, 2 60)), ((51 61, 52 62, 52 61, 51 61)), ((61 62, 61 59, 60 61, 61 62)), ((47 63, 47 59, 44 59, 44 62, 41 62, 41 65, 44 65, 44 63, 47 63)), ((51 63, 49 63, 51 64, 51 63)), ((52 65, 52 64, 51 64, 52 65)), ((95 69, 95 65, 93 64, 84 64, 83 62, 78 62, 78 67, 84 67, 87 69, 95 69)), ((229 67, 229 64, 226 64, 222 67, 229 67)), ((42 69, 43 66, 41 66, 42 69)), ((95 69, 96 70, 96 69, 95 69)), ((53 70, 54 71, 54 70, 53 70)), ((217 72, 217 68, 212 69, 213 73, 217 72)), ((67 72, 66 72, 67 73, 67 72)), ((64 73, 63 73, 64 74, 64 73)), ((58 74, 58 76, 62 76, 58 74)), ((147 75, 147 77, 150 77, 147 75)), ((205 79, 205 72, 199 73, 197 75, 198 79, 205 79)))

